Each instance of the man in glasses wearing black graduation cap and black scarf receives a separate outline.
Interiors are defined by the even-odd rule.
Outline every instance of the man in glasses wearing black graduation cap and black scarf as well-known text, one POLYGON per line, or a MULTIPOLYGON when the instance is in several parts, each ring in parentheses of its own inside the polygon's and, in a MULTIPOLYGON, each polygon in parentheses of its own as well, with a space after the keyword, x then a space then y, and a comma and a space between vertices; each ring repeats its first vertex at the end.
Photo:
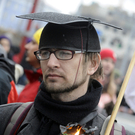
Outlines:
MULTIPOLYGON (((102 86, 93 79, 101 73, 99 39, 91 24, 94 20, 58 13, 21 17, 49 23, 42 31, 39 50, 35 52, 43 82, 17 134, 99 135, 105 117, 96 110, 102 86)), ((12 114, 19 105, 0 107, 0 124, 4 119, 0 134, 11 117, 9 112, 6 115, 7 110, 12 114)))

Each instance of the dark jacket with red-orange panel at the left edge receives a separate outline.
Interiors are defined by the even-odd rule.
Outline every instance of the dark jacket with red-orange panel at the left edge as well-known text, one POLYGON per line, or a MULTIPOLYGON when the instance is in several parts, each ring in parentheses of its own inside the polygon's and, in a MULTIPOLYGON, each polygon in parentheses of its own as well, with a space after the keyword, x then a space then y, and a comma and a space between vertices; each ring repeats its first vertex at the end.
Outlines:
POLYGON ((0 104, 16 102, 15 64, 0 53, 0 104))

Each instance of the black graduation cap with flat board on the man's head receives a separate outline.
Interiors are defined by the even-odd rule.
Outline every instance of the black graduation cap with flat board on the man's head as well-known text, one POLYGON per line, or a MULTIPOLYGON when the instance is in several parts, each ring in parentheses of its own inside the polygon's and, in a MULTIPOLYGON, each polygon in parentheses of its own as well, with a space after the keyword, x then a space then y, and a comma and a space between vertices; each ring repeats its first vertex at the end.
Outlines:
POLYGON ((31 13, 17 17, 48 22, 42 31, 39 49, 59 48, 100 52, 99 38, 93 23, 104 24, 121 30, 119 27, 100 20, 55 12, 31 13))

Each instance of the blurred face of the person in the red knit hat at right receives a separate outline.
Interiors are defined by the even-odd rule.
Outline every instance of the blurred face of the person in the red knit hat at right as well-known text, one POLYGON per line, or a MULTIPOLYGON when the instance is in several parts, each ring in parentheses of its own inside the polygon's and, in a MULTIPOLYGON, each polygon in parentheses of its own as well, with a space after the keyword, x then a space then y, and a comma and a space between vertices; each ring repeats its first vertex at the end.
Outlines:
POLYGON ((103 66, 103 73, 105 75, 110 75, 115 66, 113 59, 111 58, 102 59, 101 63, 103 66))

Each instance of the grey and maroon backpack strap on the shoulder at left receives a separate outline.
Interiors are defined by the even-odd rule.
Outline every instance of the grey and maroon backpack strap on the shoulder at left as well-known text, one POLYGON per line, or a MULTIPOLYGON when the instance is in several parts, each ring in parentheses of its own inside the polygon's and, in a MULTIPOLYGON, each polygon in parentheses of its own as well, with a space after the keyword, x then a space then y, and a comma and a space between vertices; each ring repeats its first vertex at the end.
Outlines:
POLYGON ((18 128, 25 119, 28 111, 30 110, 33 102, 23 103, 17 110, 13 113, 10 121, 5 129, 4 135, 15 135, 18 128))

